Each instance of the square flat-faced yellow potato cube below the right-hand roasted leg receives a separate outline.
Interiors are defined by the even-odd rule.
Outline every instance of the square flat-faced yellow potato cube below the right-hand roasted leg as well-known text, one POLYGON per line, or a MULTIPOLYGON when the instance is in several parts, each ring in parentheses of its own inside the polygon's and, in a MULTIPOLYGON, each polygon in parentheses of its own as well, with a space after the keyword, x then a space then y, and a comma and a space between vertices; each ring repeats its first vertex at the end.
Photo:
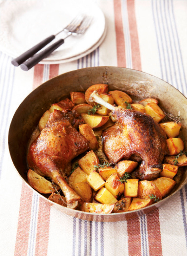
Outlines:
POLYGON ((137 197, 138 195, 138 179, 127 179, 124 182, 124 196, 137 197))

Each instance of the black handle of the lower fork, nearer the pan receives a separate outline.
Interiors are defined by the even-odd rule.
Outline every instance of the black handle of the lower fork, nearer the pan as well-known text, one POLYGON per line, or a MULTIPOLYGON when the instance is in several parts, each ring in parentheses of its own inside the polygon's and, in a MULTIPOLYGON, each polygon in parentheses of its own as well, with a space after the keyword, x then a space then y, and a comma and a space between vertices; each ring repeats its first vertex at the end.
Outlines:
POLYGON ((46 58, 50 53, 52 53, 55 49, 57 49, 60 45, 64 43, 64 39, 59 39, 57 42, 53 43, 41 53, 38 53, 21 64, 21 69, 24 71, 28 71, 30 68, 34 67, 37 63, 39 63, 42 59, 46 58))

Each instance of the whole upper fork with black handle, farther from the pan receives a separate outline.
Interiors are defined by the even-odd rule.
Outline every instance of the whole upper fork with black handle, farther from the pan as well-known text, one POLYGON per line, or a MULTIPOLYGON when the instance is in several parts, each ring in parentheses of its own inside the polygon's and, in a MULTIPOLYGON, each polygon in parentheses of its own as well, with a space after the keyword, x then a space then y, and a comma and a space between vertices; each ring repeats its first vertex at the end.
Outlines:
POLYGON ((56 33, 55 35, 50 35, 49 37, 47 37, 46 39, 44 39, 40 43, 36 44, 35 46, 33 46, 32 48, 27 50, 25 53, 22 53, 20 56, 18 56, 17 58, 13 59, 12 62, 11 62, 12 65, 18 67, 20 64, 22 64, 28 58, 32 57, 35 53, 37 53, 42 48, 44 48, 48 43, 53 41, 55 39, 55 37, 58 34, 60 34, 61 32, 63 32, 63 31, 65 31, 65 32, 73 32, 73 31, 75 31, 76 28, 78 28, 80 26, 80 24, 82 23, 84 18, 85 18, 85 16, 83 16, 83 15, 80 15, 80 14, 77 15, 65 28, 60 30, 58 33, 56 33))

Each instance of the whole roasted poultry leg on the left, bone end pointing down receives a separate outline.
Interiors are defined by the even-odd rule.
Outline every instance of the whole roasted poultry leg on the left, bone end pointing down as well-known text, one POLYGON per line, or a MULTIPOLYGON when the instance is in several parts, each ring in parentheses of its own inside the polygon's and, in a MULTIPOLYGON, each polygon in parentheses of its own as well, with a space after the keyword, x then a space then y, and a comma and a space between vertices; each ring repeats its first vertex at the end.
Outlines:
POLYGON ((82 199, 70 188, 65 176, 70 173, 71 160, 88 148, 89 142, 69 123, 64 113, 54 110, 29 148, 28 164, 59 185, 71 207, 82 199))

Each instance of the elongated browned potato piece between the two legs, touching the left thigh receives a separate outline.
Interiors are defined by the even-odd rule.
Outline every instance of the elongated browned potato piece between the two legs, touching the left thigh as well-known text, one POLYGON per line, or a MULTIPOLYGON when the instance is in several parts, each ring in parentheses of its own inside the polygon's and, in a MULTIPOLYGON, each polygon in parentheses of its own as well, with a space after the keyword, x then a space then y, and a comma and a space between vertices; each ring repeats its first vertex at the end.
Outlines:
POLYGON ((79 125, 79 133, 84 136, 89 141, 89 148, 93 151, 98 149, 99 143, 95 137, 95 134, 88 123, 79 125))

